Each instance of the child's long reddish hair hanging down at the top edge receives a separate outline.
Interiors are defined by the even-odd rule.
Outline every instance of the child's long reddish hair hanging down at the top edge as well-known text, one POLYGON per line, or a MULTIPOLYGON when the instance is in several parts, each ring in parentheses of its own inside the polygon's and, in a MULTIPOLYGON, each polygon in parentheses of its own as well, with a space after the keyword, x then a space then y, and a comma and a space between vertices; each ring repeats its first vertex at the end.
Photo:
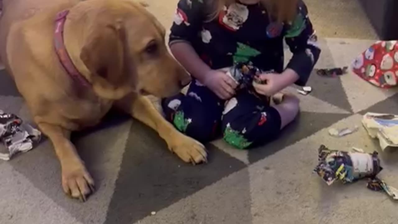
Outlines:
MULTIPOLYGON (((214 20, 224 6, 236 0, 207 0, 207 21, 214 20)), ((297 14, 298 0, 260 0, 268 12, 268 16, 278 22, 291 22, 297 14)))

